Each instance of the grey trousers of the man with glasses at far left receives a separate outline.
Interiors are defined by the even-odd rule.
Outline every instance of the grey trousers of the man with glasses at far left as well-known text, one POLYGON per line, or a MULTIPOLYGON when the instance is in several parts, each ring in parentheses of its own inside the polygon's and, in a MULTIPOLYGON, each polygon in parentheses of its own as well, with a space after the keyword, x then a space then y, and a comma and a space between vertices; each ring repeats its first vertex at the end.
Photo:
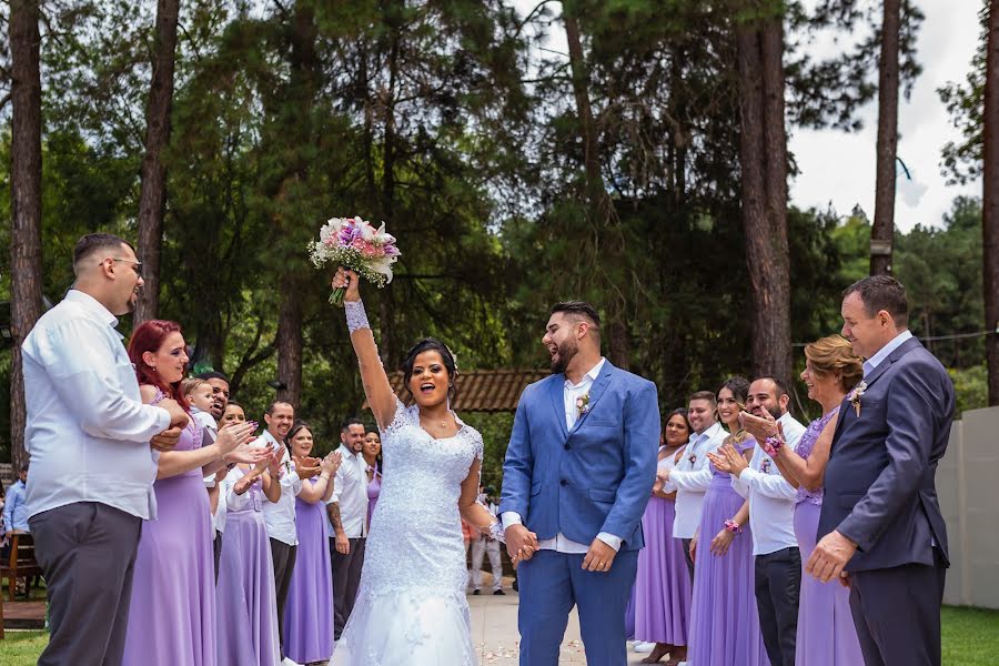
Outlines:
POLYGON ((41 666, 119 666, 142 518, 97 502, 28 519, 49 591, 49 645, 41 666))

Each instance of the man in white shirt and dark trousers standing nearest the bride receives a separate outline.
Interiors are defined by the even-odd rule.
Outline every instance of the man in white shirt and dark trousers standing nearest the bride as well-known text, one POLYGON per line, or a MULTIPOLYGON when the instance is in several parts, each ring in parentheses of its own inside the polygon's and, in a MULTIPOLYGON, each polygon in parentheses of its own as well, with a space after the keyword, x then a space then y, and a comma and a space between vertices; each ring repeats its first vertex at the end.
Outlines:
POLYGON ((333 477, 333 495, 326 503, 326 513, 333 525, 330 555, 333 565, 334 640, 340 640, 340 634, 354 609, 361 584, 361 566, 364 564, 364 544, 367 537, 364 434, 364 422, 360 418, 347 418, 341 424, 337 451, 343 456, 343 463, 333 477))

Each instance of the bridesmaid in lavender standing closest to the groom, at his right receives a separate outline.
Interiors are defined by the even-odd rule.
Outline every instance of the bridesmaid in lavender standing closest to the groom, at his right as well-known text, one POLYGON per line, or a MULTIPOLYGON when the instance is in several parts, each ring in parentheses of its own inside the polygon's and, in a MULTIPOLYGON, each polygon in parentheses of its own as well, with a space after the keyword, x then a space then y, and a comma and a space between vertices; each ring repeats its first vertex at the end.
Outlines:
MULTIPOLYGON (((687 411, 674 410, 663 428, 665 444, 659 447, 660 473, 676 465, 692 432, 687 411)), ((673 538, 676 493, 663 492, 662 485, 656 482, 642 517, 646 546, 638 552, 635 637, 656 644, 653 653, 642 659, 643 664, 656 664, 668 654, 667 666, 676 666, 687 655, 692 586, 684 544, 673 538)))

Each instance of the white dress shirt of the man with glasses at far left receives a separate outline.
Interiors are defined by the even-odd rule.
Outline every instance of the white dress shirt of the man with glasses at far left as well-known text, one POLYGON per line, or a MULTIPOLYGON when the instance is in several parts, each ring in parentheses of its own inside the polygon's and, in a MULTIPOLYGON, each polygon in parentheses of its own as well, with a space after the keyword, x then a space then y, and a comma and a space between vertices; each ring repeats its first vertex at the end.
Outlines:
POLYGON ((117 325, 97 300, 70 290, 21 345, 29 517, 77 502, 157 517, 159 456, 149 441, 170 414, 142 404, 117 325))

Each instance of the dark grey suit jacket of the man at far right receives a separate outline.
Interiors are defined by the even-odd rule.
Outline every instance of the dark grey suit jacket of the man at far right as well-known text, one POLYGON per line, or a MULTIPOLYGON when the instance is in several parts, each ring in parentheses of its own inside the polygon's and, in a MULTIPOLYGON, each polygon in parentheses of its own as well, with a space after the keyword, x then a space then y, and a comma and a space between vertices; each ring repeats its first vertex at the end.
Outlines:
MULTIPOLYGON (((825 475, 818 537, 838 529, 856 542, 847 571, 947 559, 937 463, 953 420, 953 383, 915 337, 865 379, 860 414, 844 401, 825 475)), ((948 561, 949 562, 949 561, 948 561)))

